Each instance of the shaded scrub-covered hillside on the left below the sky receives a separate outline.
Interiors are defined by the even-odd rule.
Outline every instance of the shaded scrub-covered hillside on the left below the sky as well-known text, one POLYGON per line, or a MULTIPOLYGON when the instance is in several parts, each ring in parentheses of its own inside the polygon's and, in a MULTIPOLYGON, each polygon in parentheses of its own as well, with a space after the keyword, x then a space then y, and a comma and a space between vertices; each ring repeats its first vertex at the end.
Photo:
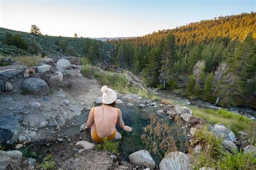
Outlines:
POLYGON ((89 58, 95 63, 98 61, 109 63, 113 54, 113 46, 92 39, 33 35, 0 28, 0 54, 14 56, 42 54, 55 57, 90 55, 89 58), (12 35, 13 40, 8 33, 12 35), (7 42, 6 39, 8 39, 7 42), (11 41, 14 42, 11 43, 11 41), (24 47, 19 46, 17 41, 24 44, 24 47))

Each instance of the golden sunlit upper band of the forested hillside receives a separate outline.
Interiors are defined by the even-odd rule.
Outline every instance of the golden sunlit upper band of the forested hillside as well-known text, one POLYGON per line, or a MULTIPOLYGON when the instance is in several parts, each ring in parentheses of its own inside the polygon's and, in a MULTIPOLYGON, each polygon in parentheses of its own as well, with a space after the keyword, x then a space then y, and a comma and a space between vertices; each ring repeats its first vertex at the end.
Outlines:
POLYGON ((247 34, 253 33, 256 38, 256 13, 241 13, 240 15, 220 16, 210 20, 201 20, 200 22, 186 24, 176 29, 161 30, 147 34, 143 37, 117 41, 110 41, 111 44, 120 42, 130 42, 133 45, 156 46, 163 37, 169 34, 176 36, 178 45, 189 44, 193 42, 210 42, 217 37, 229 37, 231 40, 244 40, 247 34))

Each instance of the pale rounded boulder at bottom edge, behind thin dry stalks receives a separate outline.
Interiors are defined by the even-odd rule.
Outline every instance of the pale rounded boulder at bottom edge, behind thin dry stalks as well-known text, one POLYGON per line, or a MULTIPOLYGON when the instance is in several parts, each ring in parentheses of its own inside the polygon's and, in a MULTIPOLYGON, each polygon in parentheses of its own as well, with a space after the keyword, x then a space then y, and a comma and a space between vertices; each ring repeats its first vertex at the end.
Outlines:
POLYGON ((191 169, 190 158, 183 152, 171 152, 161 160, 159 167, 161 170, 191 169))

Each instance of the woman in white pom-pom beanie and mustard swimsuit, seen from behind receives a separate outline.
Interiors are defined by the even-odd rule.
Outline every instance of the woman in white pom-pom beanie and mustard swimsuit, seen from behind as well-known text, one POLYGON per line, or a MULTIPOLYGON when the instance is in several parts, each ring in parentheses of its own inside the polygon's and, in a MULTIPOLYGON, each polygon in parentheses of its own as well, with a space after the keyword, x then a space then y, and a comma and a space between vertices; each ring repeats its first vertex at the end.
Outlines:
POLYGON ((109 140, 116 136, 116 124, 123 130, 131 132, 132 128, 125 126, 120 109, 116 108, 117 95, 107 86, 102 87, 103 105, 92 108, 87 123, 82 129, 91 128, 91 137, 95 141, 109 140))

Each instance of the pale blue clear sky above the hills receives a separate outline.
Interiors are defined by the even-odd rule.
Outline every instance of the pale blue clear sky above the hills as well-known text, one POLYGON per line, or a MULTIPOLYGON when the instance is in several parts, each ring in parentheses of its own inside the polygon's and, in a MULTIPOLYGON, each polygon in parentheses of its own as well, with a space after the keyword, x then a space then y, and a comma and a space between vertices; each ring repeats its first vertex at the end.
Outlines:
POLYGON ((51 36, 132 37, 220 15, 255 12, 254 0, 3 1, 0 27, 51 36))

